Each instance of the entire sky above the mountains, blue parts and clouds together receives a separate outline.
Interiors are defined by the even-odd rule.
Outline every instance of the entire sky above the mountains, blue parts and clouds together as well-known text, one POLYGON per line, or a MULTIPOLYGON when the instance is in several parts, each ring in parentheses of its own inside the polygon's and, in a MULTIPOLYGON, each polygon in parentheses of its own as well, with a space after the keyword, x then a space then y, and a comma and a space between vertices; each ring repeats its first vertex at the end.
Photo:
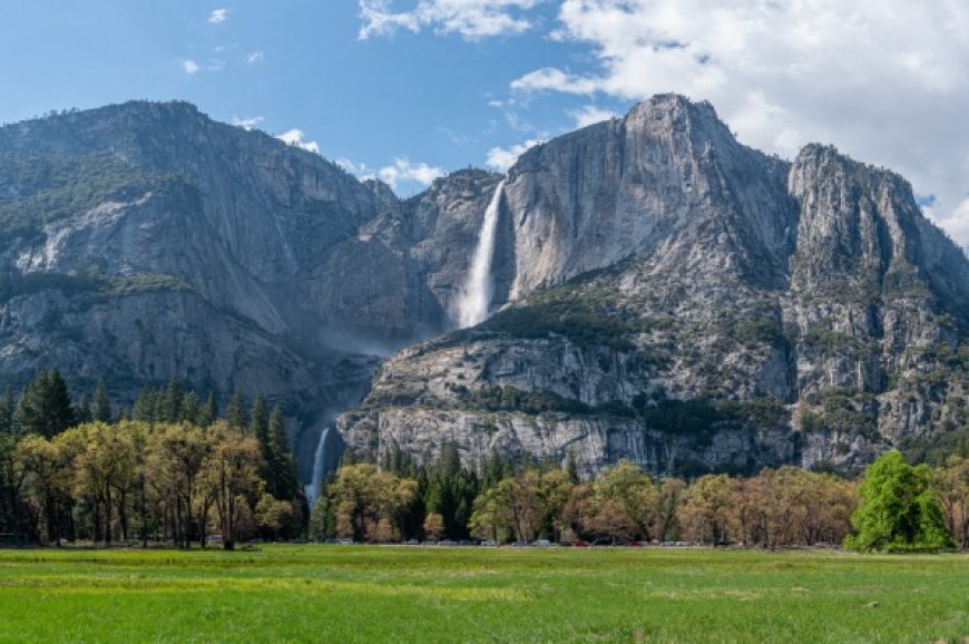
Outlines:
POLYGON ((969 246, 966 0, 3 0, 0 121, 182 99, 409 196, 654 94, 912 182, 969 246))

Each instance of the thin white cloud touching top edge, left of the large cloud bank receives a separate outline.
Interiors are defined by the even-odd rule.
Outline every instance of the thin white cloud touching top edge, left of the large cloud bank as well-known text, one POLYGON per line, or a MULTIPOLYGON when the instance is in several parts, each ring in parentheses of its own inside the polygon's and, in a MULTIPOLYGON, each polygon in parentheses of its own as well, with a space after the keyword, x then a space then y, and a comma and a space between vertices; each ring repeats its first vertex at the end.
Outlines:
POLYGON ((458 33, 466 40, 521 33, 532 27, 522 11, 540 0, 420 0, 405 11, 393 11, 392 0, 359 0, 360 39, 389 36, 398 29, 414 33, 431 28, 458 33))

